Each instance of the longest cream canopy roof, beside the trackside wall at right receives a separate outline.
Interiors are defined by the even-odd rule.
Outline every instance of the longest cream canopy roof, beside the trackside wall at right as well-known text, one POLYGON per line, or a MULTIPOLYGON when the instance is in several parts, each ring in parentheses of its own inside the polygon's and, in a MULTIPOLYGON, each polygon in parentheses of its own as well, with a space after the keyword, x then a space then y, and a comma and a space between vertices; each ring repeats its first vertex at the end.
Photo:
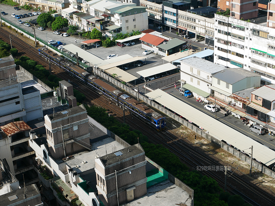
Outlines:
POLYGON ((201 126, 207 130, 210 135, 218 140, 224 140, 241 151, 248 149, 251 145, 253 145, 253 157, 263 164, 270 165, 275 162, 275 151, 223 124, 222 122, 219 122, 204 112, 193 108, 178 98, 175 98, 160 89, 149 92, 146 95, 159 102, 161 105, 171 109, 179 115, 182 115, 198 126, 201 126))

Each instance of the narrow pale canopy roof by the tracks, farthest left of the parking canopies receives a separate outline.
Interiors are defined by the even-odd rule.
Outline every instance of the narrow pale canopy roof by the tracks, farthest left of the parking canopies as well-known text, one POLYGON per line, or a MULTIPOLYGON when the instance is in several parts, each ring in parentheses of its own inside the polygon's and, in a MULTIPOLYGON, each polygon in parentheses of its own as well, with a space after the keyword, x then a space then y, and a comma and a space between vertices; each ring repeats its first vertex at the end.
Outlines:
POLYGON ((98 64, 104 62, 103 59, 97 57, 96 55, 93 55, 92 53, 90 53, 82 48, 79 48, 78 46, 76 46, 74 44, 64 45, 62 48, 67 49, 68 51, 70 51, 73 54, 75 54, 77 52, 79 57, 81 57, 82 59, 85 59, 86 61, 90 62, 93 65, 97 66, 98 64))

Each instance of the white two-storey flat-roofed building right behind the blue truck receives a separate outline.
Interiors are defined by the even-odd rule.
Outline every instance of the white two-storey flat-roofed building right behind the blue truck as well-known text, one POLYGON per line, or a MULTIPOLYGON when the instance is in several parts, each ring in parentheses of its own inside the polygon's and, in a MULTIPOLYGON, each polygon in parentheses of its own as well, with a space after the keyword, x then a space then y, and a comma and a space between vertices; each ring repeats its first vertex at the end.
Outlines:
POLYGON ((190 57, 181 62, 181 86, 190 90, 194 97, 204 100, 211 94, 212 75, 224 69, 223 66, 201 59, 190 57))

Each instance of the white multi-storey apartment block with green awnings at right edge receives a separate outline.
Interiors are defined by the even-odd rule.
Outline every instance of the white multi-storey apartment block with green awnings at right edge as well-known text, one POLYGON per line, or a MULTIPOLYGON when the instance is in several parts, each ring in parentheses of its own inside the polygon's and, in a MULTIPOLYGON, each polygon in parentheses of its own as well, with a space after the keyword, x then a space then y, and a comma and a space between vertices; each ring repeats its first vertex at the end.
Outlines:
POLYGON ((266 16, 253 22, 215 14, 214 62, 261 75, 261 84, 275 83, 274 28, 266 16))

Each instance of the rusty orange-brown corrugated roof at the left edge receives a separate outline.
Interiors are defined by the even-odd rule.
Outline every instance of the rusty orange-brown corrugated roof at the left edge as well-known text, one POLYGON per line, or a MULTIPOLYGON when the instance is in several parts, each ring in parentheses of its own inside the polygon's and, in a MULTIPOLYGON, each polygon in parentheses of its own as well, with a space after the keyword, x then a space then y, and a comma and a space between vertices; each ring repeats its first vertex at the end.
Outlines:
POLYGON ((26 130, 31 130, 31 127, 27 125, 24 121, 11 122, 0 127, 1 130, 9 137, 18 132, 23 132, 26 130))

